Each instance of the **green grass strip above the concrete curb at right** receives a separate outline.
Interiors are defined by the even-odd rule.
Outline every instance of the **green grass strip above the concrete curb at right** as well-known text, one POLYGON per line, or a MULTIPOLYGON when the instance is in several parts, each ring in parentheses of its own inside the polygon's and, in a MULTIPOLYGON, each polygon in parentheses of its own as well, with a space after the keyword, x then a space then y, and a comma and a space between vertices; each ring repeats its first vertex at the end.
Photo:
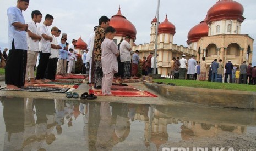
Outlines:
POLYGON ((177 86, 186 86, 194 88, 209 88, 209 89, 225 89, 225 90, 238 90, 238 91, 253 91, 256 92, 256 85, 248 84, 229 84, 229 83, 217 83, 217 82, 203 82, 195 80, 171 80, 171 79, 154 79, 154 82, 163 82, 165 84, 174 83, 177 86))

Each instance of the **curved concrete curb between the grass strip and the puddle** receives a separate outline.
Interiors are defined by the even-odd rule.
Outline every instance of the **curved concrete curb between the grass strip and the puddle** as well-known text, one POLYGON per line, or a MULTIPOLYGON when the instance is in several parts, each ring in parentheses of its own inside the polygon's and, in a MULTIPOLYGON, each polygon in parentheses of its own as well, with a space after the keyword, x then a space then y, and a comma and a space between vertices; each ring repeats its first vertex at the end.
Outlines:
POLYGON ((175 101, 214 107, 256 109, 256 92, 190 88, 156 83, 145 83, 145 85, 161 96, 175 101))

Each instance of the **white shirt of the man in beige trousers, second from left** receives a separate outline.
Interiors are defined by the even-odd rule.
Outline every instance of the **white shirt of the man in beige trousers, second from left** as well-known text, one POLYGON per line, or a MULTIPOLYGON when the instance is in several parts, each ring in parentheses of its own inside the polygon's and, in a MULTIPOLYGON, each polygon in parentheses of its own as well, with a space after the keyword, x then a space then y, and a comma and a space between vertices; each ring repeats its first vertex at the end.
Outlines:
MULTIPOLYGON (((36 26, 34 21, 29 21, 26 24, 29 25, 29 30, 32 33, 38 35, 37 26, 36 26)), ((35 42, 31 37, 29 37, 28 33, 26 34, 26 36, 27 36, 27 39, 28 39, 28 50, 38 52, 39 51, 39 41, 35 42)))

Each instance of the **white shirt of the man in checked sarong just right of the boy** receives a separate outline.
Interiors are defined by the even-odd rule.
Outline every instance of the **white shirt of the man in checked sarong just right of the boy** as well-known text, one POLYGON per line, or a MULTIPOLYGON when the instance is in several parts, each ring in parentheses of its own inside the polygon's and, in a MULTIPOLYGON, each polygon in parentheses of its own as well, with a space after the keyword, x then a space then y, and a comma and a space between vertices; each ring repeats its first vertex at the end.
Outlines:
POLYGON ((123 42, 120 44, 121 62, 126 62, 131 60, 129 49, 130 49, 130 44, 126 40, 123 40, 123 42))

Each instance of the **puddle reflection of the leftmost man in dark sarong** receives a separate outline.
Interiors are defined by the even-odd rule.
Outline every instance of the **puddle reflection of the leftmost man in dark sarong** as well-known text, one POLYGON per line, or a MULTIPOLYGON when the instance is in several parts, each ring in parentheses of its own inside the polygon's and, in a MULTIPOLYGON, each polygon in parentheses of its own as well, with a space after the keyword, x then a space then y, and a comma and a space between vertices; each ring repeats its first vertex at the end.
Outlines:
POLYGON ((24 99, 5 98, 3 119, 6 124, 3 150, 23 150, 24 99))

